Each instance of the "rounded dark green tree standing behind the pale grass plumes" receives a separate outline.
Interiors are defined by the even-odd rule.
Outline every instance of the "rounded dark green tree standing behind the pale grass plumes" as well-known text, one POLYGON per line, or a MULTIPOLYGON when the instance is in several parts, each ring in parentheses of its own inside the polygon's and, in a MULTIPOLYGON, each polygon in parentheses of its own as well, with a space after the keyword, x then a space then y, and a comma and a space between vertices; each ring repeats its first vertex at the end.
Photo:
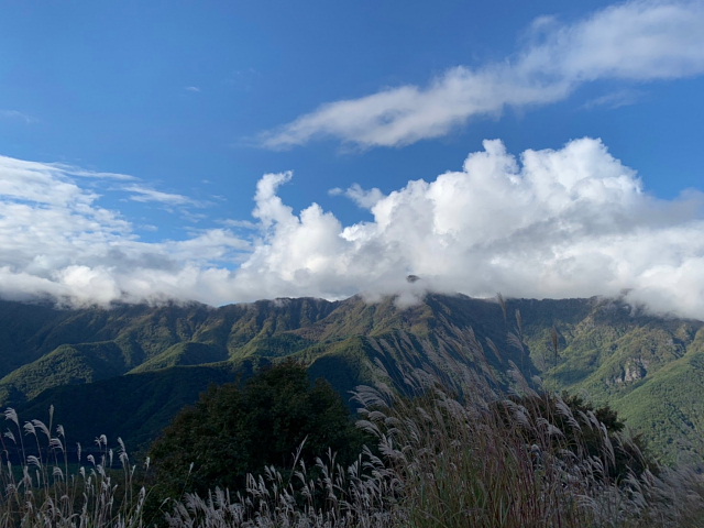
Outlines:
POLYGON ((328 449, 340 463, 350 463, 363 442, 330 384, 311 383, 306 369, 289 361, 262 371, 244 386, 210 387, 174 419, 150 455, 160 497, 178 497, 216 486, 241 488, 246 473, 265 465, 290 470, 301 443, 300 455, 312 466, 328 449))

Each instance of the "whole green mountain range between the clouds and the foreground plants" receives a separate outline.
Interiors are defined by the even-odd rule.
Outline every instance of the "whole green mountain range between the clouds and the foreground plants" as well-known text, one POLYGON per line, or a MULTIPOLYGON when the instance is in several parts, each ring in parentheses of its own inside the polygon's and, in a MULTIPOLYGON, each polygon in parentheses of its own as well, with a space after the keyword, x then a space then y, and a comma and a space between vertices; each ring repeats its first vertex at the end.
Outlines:
POLYGON ((244 380, 282 358, 343 395, 410 367, 448 378, 466 366, 510 383, 516 365, 553 391, 608 404, 666 461, 704 446, 704 323, 654 317, 618 299, 387 298, 120 305, 59 309, 0 301, 0 404, 81 441, 100 433, 146 446, 210 383, 244 380), (381 373, 384 374, 381 374, 381 373))

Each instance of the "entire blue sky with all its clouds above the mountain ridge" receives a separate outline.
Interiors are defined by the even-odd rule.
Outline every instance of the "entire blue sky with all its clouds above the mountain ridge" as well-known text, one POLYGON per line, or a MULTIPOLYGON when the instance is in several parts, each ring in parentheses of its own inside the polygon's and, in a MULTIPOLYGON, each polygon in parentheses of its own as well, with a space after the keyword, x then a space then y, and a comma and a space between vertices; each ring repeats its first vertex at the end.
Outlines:
POLYGON ((702 28, 701 0, 0 0, 0 296, 704 319, 702 28))

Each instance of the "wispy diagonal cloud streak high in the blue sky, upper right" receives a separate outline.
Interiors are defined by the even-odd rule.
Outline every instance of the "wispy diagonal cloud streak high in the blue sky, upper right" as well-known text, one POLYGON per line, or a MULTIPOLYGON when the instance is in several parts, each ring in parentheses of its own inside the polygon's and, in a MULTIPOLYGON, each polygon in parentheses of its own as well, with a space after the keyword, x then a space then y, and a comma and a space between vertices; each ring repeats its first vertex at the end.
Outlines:
POLYGON ((444 135, 471 118, 506 107, 562 100, 590 81, 700 75, 702 28, 701 1, 635 0, 572 24, 541 18, 525 48, 505 62, 475 69, 459 66, 427 87, 400 86, 330 102, 263 133, 260 143, 287 148, 332 136, 366 147, 402 146, 444 135))

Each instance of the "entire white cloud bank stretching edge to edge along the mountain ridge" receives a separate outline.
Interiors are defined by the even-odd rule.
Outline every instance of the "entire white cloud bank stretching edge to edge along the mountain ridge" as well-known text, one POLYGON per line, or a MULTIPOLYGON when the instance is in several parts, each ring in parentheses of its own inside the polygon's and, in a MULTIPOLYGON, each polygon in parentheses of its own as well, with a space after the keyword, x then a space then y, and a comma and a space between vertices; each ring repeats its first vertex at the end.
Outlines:
POLYGON ((221 305, 361 292, 563 298, 628 290, 654 310, 704 319, 704 195, 649 196, 595 139, 519 156, 485 141, 460 170, 429 182, 388 195, 338 189, 373 216, 350 226, 317 204, 294 213, 277 195, 293 174, 267 174, 251 223, 241 222, 254 227, 245 235, 210 229, 158 243, 140 241, 127 219, 99 207, 80 185, 86 176, 0 157, 3 297, 221 305), (408 274, 421 279, 409 284, 408 274))

